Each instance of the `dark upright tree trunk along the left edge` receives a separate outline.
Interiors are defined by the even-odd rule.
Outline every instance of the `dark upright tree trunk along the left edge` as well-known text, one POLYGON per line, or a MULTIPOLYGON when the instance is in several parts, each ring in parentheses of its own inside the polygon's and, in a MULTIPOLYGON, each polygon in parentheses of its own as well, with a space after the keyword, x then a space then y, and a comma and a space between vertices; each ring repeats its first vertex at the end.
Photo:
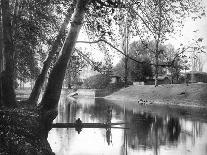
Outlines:
POLYGON ((14 90, 14 44, 12 38, 9 0, 1 0, 3 41, 5 56, 5 71, 1 74, 1 99, 4 106, 15 107, 16 95, 14 90))

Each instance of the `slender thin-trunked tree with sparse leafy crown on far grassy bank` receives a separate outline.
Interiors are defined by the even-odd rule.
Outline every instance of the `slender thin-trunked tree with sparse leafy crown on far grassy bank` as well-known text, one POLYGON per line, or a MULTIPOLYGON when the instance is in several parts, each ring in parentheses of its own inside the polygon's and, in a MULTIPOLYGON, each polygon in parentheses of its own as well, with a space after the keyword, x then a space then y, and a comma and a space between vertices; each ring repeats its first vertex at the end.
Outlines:
MULTIPOLYGON (((183 26, 182 20, 186 15, 191 12, 198 13, 201 7, 199 2, 195 1, 147 0, 132 1, 132 3, 135 4, 133 7, 129 7, 129 12, 133 17, 132 33, 138 35, 140 40, 155 41, 155 48, 150 51, 154 53, 155 86, 157 86, 158 68, 160 66, 159 56, 162 55, 160 45, 170 35, 179 31, 178 28, 183 26)), ((128 4, 128 6, 130 5, 128 4)))

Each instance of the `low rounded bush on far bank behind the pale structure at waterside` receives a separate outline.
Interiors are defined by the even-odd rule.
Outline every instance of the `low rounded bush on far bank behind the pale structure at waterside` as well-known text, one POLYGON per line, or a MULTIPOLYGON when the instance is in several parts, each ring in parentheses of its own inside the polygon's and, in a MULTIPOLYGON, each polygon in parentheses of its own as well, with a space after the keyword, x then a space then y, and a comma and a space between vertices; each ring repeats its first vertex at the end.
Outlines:
POLYGON ((87 78, 83 83, 83 87, 89 89, 103 89, 107 87, 110 81, 110 76, 97 74, 87 78))

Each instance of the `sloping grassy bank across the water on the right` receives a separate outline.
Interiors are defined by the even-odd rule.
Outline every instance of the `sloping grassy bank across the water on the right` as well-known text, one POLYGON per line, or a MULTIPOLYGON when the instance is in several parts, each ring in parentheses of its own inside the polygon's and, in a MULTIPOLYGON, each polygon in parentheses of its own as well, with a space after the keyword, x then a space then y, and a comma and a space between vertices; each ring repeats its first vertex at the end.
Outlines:
POLYGON ((207 84, 132 85, 107 97, 107 100, 140 104, 207 107, 207 84))

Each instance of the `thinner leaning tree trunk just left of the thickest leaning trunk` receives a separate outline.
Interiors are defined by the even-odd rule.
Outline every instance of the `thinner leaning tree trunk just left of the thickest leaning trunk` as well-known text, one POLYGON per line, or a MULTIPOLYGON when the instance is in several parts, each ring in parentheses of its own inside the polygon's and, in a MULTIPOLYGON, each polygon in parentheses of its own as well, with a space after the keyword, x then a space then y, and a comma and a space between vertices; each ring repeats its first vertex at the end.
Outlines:
POLYGON ((44 62, 41 73, 39 74, 39 76, 37 77, 37 80, 35 81, 35 85, 32 89, 32 92, 29 96, 29 99, 28 99, 28 103, 30 103, 30 104, 36 104, 38 101, 39 95, 41 93, 41 89, 42 89, 43 84, 46 79, 46 75, 47 75, 49 67, 51 65, 51 62, 52 62, 55 54, 57 53, 58 47, 61 45, 61 41, 64 39, 63 37, 65 34, 65 30, 68 26, 70 19, 71 19, 72 13, 74 12, 74 6, 75 6, 75 1, 73 1, 71 7, 68 8, 67 15, 65 17, 64 22, 61 25, 59 34, 57 35, 56 40, 53 43, 53 46, 49 52, 49 55, 44 62))

